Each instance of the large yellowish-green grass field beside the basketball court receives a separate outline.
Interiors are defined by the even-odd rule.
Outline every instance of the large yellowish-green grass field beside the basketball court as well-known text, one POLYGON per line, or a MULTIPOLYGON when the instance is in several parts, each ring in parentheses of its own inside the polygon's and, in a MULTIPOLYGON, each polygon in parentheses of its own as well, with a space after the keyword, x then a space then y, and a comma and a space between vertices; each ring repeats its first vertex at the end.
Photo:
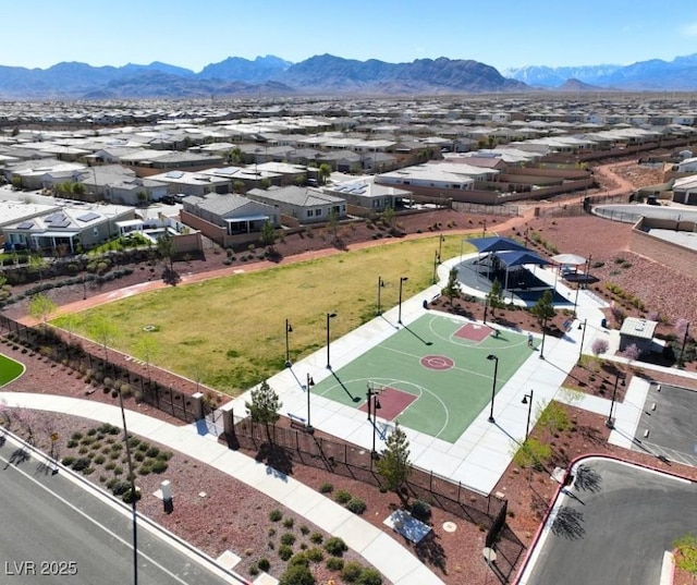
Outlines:
MULTIPOLYGON (((447 236, 443 258, 461 253, 462 236, 447 236)), ((405 298, 431 283, 438 234, 423 240, 347 252, 331 257, 200 284, 169 288, 110 303, 52 322, 90 337, 96 317, 120 330, 111 345, 140 359, 237 394, 281 370, 285 319, 292 361, 326 343, 326 314, 337 339, 375 316, 378 276, 383 309, 396 305, 400 277, 405 298), (152 326, 155 330, 144 331, 152 326), (147 345, 144 337, 151 341, 147 345), (148 358, 149 356, 149 358, 148 358)), ((464 252, 472 246, 465 244, 464 252)))

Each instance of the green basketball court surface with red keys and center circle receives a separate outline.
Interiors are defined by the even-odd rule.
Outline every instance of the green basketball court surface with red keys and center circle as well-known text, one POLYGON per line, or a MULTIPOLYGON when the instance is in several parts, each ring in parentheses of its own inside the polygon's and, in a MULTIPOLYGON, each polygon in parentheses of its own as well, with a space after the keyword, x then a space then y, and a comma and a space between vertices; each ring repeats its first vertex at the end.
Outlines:
POLYGON ((490 404, 496 361, 497 392, 533 350, 527 337, 457 318, 424 315, 332 373, 313 393, 367 409, 370 383, 382 393, 378 419, 454 442, 490 404))

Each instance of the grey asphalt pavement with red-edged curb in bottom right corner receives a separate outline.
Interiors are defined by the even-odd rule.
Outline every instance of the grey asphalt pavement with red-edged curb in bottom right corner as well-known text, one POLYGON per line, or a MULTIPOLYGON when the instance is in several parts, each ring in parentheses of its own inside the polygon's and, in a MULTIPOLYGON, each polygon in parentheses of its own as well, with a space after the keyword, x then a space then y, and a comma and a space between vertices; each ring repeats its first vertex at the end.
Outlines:
POLYGON ((663 552, 697 525, 697 486, 608 460, 585 464, 525 585, 656 585, 663 552))

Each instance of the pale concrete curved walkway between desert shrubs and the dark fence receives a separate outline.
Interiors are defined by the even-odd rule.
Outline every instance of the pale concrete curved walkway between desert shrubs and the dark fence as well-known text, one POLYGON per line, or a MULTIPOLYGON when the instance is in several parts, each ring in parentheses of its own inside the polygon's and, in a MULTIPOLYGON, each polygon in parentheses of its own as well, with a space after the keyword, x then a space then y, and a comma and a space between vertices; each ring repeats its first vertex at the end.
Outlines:
MULTIPOLYGON (((10 407, 83 416, 122 427, 121 410, 88 400, 20 392, 0 392, 10 407)), ((178 427, 147 415, 126 411, 129 430, 210 465, 273 498, 323 531, 344 539, 394 585, 442 585, 443 582, 388 533, 358 517, 299 482, 270 470, 254 459, 200 436, 188 425, 178 427)))

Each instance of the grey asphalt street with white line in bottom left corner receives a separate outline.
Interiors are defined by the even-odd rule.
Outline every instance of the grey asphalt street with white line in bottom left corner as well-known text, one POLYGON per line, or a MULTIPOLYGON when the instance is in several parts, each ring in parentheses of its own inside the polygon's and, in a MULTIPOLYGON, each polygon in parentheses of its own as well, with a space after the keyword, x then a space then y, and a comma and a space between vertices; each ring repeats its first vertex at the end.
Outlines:
MULTIPOLYGON (((0 441, 1 442, 1 441, 0 441)), ((0 583, 123 585, 134 582, 132 515, 38 460, 9 463, 0 448, 0 583)), ((237 583, 199 564, 138 524, 138 581, 154 585, 237 583)))

